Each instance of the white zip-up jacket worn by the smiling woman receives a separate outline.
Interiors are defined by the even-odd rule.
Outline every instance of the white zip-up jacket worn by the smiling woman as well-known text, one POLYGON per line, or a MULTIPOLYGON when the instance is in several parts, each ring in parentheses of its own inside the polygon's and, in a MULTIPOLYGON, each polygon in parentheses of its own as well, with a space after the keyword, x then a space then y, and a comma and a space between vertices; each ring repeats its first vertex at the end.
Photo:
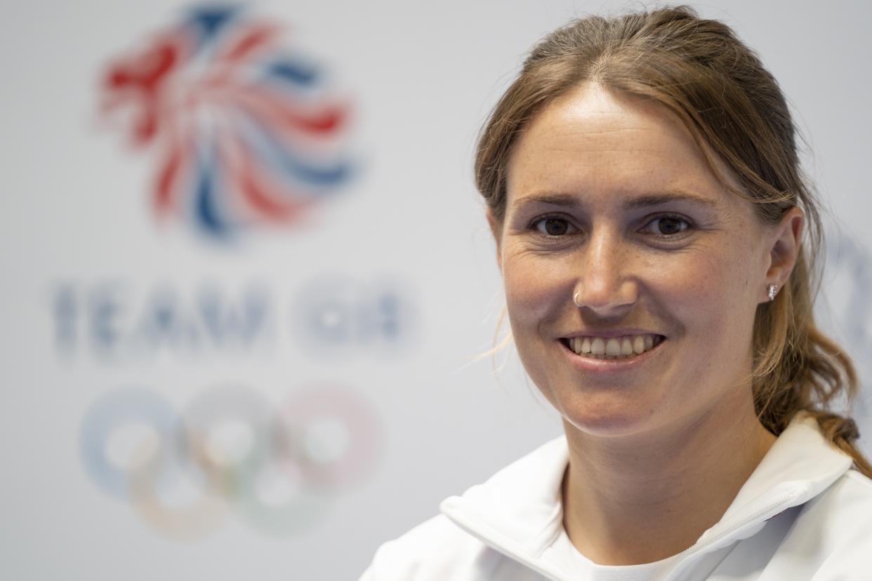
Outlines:
POLYGON ((798 415, 718 524, 655 564, 604 566, 569 542, 565 436, 382 544, 360 581, 848 581, 872 579, 872 480, 798 415))

